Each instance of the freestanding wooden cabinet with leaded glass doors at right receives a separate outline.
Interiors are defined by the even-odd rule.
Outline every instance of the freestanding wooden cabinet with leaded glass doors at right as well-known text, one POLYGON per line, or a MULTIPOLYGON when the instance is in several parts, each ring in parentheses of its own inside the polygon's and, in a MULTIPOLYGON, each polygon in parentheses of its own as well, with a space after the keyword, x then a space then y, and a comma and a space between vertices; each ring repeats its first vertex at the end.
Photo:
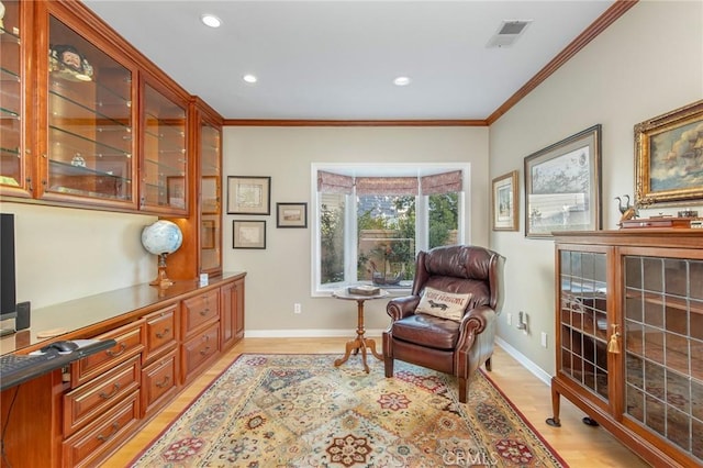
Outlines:
POLYGON ((565 395, 652 465, 702 465, 703 232, 557 233, 555 271, 547 422, 565 395))

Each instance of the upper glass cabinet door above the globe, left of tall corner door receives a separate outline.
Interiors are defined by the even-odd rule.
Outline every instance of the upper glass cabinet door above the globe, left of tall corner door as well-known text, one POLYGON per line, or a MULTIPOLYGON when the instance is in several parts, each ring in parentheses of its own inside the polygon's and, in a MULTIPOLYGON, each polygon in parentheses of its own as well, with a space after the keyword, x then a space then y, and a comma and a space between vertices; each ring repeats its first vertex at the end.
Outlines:
POLYGON ((187 212, 187 103, 144 86, 142 208, 187 212))

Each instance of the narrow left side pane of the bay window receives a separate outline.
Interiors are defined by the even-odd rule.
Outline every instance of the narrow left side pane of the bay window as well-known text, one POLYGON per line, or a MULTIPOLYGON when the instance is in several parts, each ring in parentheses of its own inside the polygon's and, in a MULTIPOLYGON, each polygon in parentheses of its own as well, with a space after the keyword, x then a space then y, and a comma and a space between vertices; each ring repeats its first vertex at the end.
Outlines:
POLYGON ((323 193, 320 197, 320 282, 344 281, 344 233, 346 196, 323 193))

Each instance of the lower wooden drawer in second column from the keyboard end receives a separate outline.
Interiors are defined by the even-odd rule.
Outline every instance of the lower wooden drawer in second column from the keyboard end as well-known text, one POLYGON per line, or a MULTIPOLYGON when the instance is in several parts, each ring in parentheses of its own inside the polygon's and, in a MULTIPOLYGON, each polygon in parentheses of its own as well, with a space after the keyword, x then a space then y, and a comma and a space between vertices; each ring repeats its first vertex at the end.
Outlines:
POLYGON ((171 350, 142 370, 142 416, 168 403, 178 390, 178 353, 171 350))

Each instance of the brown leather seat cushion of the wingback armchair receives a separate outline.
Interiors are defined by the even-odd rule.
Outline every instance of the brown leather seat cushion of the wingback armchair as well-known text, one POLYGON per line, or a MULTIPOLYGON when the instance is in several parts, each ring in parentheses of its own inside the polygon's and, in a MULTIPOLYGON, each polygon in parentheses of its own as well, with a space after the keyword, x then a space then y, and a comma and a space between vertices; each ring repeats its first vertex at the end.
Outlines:
POLYGON ((454 349, 459 338, 459 322, 419 313, 393 322, 393 338, 436 349, 454 349))

